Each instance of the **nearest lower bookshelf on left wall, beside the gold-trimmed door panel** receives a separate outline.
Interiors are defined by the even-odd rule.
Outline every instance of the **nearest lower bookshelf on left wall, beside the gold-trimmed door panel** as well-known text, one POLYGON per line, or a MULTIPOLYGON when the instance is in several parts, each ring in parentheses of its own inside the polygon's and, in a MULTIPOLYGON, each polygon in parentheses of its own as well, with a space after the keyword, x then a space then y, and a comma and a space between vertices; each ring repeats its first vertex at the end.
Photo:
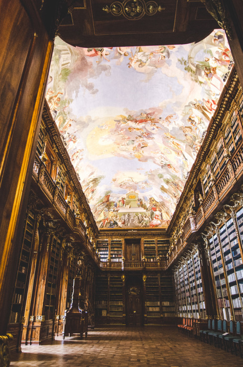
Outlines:
POLYGON ((19 261, 18 274, 15 282, 14 295, 9 323, 21 321, 23 298, 27 284, 27 274, 30 266, 30 254, 34 235, 35 213, 28 211, 24 225, 22 249, 19 261))

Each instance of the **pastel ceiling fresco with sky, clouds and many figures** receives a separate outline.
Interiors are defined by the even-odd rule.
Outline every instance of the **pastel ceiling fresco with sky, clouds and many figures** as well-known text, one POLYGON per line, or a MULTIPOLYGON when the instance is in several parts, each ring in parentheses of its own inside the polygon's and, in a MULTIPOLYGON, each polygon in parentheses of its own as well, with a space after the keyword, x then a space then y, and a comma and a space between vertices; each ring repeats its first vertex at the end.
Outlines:
POLYGON ((46 99, 99 228, 166 228, 232 67, 222 30, 189 45, 55 41, 46 99))

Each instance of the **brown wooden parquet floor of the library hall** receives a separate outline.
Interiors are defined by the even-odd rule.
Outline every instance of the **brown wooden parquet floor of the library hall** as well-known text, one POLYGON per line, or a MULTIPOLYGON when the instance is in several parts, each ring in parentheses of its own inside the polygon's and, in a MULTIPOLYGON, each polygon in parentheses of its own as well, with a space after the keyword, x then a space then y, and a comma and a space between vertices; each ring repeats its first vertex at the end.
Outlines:
POLYGON ((12 367, 240 367, 243 359, 194 338, 174 326, 100 328, 61 337, 51 345, 22 346, 12 367))

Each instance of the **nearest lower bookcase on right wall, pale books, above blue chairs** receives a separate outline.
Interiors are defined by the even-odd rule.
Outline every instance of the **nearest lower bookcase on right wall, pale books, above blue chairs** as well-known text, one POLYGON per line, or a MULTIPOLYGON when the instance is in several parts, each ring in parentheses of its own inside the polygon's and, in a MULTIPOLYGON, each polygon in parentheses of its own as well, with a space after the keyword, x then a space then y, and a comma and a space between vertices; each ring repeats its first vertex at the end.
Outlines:
POLYGON ((220 227, 218 235, 209 238, 220 316, 228 321, 231 316, 235 321, 243 321, 242 238, 243 208, 236 212, 236 225, 230 218, 220 227))

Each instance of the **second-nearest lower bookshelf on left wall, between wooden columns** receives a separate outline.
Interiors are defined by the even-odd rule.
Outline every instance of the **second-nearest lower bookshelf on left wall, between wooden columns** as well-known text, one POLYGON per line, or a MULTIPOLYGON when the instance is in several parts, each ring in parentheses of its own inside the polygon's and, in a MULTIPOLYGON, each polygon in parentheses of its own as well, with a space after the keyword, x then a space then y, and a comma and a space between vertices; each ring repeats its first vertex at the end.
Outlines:
POLYGON ((59 271, 59 261, 61 254, 61 241, 54 235, 52 239, 52 245, 50 248, 49 267, 46 276, 46 289, 45 289, 45 301, 44 301, 44 316, 45 320, 51 320, 55 315, 55 302, 56 302, 56 290, 57 279, 59 271))

